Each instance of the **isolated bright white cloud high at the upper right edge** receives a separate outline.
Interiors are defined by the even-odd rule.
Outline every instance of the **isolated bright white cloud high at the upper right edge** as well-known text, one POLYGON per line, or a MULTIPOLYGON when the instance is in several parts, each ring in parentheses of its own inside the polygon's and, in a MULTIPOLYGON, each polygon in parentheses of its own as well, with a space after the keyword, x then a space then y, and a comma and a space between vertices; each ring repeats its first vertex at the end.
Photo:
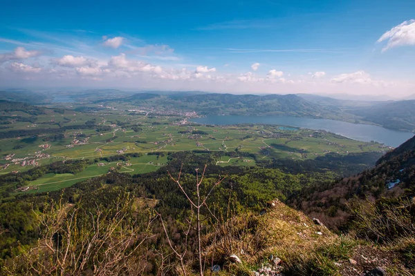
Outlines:
POLYGON ((398 26, 382 34, 378 42, 387 41, 382 52, 396 46, 415 45, 415 20, 403 21, 398 26))

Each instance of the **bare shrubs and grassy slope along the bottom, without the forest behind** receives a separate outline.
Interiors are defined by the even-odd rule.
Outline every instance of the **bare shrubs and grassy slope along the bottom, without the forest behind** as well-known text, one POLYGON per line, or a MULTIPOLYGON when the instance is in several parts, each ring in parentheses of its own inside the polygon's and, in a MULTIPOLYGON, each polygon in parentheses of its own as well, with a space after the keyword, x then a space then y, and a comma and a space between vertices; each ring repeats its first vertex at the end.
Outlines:
MULTIPOLYGON (((116 178, 127 182, 121 175, 110 179, 116 178)), ((30 245, 17 243, 12 247, 13 251, 3 259, 1 272, 4 275, 210 275, 210 270, 218 270, 218 275, 255 275, 255 272, 371 275, 365 274, 371 270, 387 275, 414 273, 415 233, 411 227, 414 217, 396 208, 382 213, 384 221, 374 217, 379 215, 376 208, 375 213, 360 213, 348 234, 337 235, 278 199, 259 201, 258 206, 249 208, 236 204, 237 200, 230 195, 228 208, 214 200, 205 205, 199 239, 192 215, 194 209, 187 205, 185 197, 180 197, 183 194, 177 186, 174 206, 151 199, 143 201, 142 197, 132 196, 138 195, 138 190, 118 186, 118 181, 102 186, 100 192, 93 187, 91 197, 98 196, 100 204, 86 193, 82 193, 83 199, 75 201, 73 197, 66 199, 66 193, 37 201, 39 209, 28 210, 33 216, 32 233, 36 238, 30 245), (181 204, 177 204, 179 198, 181 204), (187 207, 183 209, 180 205, 187 207), (369 233, 374 226, 377 234, 387 239, 360 235, 369 233), (390 226, 404 228, 390 233, 387 232, 390 226), (39 230, 35 230, 37 227, 39 230), (197 249, 198 241, 201 251, 197 249), (199 252, 202 252, 201 272, 199 252), (241 261, 235 261, 232 255, 241 261)), ((212 188, 212 181, 207 178, 205 188, 212 188)), ((190 183, 185 190, 194 200, 197 196, 192 190, 196 187, 194 181, 190 183)), ((89 181, 88 185, 91 184, 89 181)), ((221 184, 216 188, 224 192, 221 184)), ((78 187, 77 192, 81 189, 78 187)))

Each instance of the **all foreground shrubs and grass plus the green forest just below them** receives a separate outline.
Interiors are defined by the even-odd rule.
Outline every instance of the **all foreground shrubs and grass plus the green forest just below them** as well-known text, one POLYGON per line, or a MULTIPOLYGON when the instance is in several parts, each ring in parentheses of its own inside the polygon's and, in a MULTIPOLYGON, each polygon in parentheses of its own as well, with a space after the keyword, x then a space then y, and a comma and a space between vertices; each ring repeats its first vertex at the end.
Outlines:
MULTIPOLYGON (((379 164, 399 161, 411 175, 412 141, 403 148, 379 164)), ((212 164, 202 174, 210 155, 170 157, 156 172, 111 172, 64 193, 3 199, 2 273, 201 275, 219 268, 219 275, 415 273, 410 189, 399 198, 346 205, 347 230, 338 235, 329 229, 335 224, 326 228, 282 203, 302 190, 336 183, 332 172, 212 164), (202 203, 196 204, 199 219, 190 200, 202 203)))

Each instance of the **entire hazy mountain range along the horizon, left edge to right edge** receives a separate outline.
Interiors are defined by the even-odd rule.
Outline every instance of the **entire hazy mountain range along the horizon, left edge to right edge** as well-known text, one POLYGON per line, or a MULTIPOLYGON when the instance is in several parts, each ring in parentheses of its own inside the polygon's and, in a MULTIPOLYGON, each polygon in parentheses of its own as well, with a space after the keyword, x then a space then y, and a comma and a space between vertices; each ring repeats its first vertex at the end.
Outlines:
MULTIPOLYGON (((311 94, 259 96, 202 91, 124 92, 114 89, 64 92, 64 95, 75 99, 75 106, 124 103, 125 106, 196 111, 201 115, 287 115, 377 124, 394 130, 415 131, 415 100, 374 101, 374 97, 371 97, 371 101, 367 101, 366 96, 335 99, 311 94)), ((55 96, 50 92, 30 90, 0 91, 0 99, 33 104, 51 103, 55 96)))

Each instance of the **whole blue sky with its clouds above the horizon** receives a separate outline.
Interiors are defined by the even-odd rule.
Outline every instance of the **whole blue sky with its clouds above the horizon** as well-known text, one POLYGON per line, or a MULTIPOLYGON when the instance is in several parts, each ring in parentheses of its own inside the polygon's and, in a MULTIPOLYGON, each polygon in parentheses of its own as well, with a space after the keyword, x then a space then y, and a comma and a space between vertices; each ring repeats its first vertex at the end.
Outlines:
POLYGON ((415 1, 3 2, 2 86, 415 93, 415 1))

